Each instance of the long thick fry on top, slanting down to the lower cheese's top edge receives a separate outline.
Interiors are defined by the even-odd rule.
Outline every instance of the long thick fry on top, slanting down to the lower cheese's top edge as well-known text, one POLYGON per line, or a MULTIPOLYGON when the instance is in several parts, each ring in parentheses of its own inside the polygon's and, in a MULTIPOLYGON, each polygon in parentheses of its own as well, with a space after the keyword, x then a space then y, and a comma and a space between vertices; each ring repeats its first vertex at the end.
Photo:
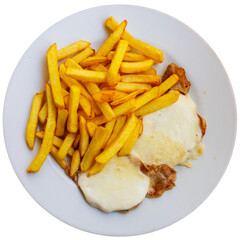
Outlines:
POLYGON ((132 113, 118 136, 103 150, 100 155, 95 158, 96 162, 107 163, 115 154, 117 154, 135 129, 137 122, 137 117, 132 113))

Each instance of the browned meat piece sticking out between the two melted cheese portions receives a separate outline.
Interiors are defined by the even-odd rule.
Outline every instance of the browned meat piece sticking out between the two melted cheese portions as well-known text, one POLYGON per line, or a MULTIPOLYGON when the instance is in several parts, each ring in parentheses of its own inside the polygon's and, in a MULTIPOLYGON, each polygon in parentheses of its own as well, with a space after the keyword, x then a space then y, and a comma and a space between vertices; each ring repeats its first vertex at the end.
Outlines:
POLYGON ((150 178, 150 185, 147 193, 147 197, 149 198, 161 197, 165 191, 175 186, 174 182, 177 178, 176 171, 167 164, 153 164, 147 171, 145 168, 142 168, 142 171, 150 178))

